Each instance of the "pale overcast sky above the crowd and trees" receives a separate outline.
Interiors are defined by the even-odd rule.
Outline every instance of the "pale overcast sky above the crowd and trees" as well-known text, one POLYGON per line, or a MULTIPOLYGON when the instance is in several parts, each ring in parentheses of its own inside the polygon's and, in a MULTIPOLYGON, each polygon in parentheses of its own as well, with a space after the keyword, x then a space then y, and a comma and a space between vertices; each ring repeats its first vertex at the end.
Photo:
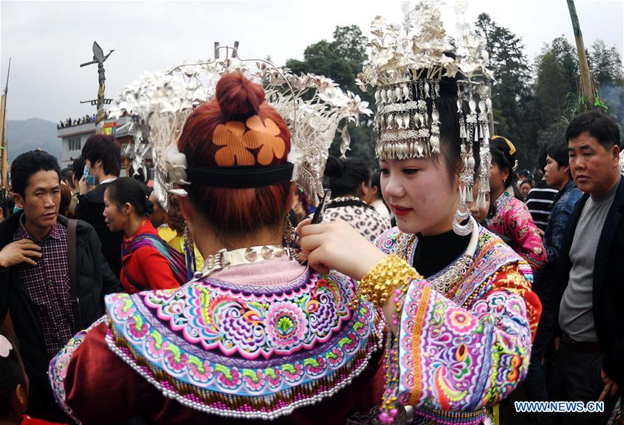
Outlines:
MULTIPOLYGON (((576 0, 586 46, 596 38, 623 52, 623 1, 576 0)), ((357 24, 369 35, 376 15, 400 21, 400 0, 308 1, 0 1, 1 87, 12 58, 7 119, 34 116, 58 122, 92 114, 79 101, 96 98, 96 40, 108 53, 106 97, 144 71, 158 71, 184 60, 212 57, 215 41, 240 42, 242 58, 264 58, 283 65, 303 58, 306 46, 331 40, 337 25, 357 24)), ((446 1, 446 28, 452 30, 453 1, 446 1), (450 22, 448 22, 450 20, 450 22)), ((565 0, 469 0, 468 21, 488 12, 498 24, 522 37, 530 62, 545 42, 572 27, 565 0)))

